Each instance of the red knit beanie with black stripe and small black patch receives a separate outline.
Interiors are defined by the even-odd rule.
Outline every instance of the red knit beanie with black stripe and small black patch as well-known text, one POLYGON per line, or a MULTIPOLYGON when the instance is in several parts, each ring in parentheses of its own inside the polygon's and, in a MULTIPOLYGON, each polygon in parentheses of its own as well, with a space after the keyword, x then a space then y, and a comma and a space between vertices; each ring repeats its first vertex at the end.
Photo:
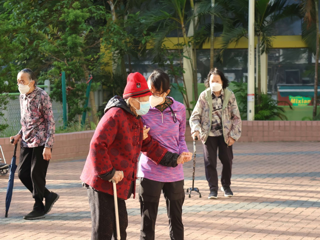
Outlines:
POLYGON ((127 78, 127 85, 124 88, 123 98, 139 98, 151 96, 148 84, 140 73, 130 73, 127 78))

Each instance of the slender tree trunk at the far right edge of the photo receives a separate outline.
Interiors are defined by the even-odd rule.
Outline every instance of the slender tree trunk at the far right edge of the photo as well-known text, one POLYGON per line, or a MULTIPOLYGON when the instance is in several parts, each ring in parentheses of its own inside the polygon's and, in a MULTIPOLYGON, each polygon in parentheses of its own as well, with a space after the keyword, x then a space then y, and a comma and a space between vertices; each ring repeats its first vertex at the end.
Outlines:
POLYGON ((316 62, 315 62, 315 93, 313 97, 313 120, 317 116, 317 98, 318 98, 318 62, 319 62, 319 17, 318 17, 318 0, 315 0, 316 9, 316 62))

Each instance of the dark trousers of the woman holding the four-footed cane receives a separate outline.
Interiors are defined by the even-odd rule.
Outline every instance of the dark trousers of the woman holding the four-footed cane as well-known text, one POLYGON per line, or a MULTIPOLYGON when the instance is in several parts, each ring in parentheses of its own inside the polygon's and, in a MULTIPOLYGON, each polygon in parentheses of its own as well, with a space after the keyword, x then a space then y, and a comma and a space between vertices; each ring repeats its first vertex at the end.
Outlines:
POLYGON ((232 170, 232 146, 225 143, 223 136, 209 136, 204 149, 205 177, 209 183, 210 190, 218 191, 218 173, 217 173, 217 150, 219 149, 219 159, 222 163, 221 185, 230 187, 232 170))

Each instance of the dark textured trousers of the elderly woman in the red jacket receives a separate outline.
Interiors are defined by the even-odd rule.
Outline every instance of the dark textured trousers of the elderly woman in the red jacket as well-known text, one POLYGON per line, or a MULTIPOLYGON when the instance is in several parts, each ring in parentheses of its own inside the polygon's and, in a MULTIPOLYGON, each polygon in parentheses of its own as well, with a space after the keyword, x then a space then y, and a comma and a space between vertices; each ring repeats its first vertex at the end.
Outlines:
MULTIPOLYGON (((114 197, 110 194, 97 192, 88 188, 91 209, 92 233, 91 240, 116 239, 116 214, 114 197)), ((127 239, 128 213, 125 201, 118 199, 118 214, 121 240, 127 239)))

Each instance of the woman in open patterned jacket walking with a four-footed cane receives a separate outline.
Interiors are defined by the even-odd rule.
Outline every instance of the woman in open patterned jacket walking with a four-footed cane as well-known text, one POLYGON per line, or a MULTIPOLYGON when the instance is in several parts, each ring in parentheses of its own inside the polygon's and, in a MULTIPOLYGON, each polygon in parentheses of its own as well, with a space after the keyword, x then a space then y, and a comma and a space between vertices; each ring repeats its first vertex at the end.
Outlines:
POLYGON ((217 150, 222 163, 221 191, 232 197, 232 145, 241 136, 241 118, 229 81, 217 68, 210 70, 204 90, 190 117, 194 140, 201 139, 204 147, 205 176, 209 184, 209 199, 218 198, 217 150))

